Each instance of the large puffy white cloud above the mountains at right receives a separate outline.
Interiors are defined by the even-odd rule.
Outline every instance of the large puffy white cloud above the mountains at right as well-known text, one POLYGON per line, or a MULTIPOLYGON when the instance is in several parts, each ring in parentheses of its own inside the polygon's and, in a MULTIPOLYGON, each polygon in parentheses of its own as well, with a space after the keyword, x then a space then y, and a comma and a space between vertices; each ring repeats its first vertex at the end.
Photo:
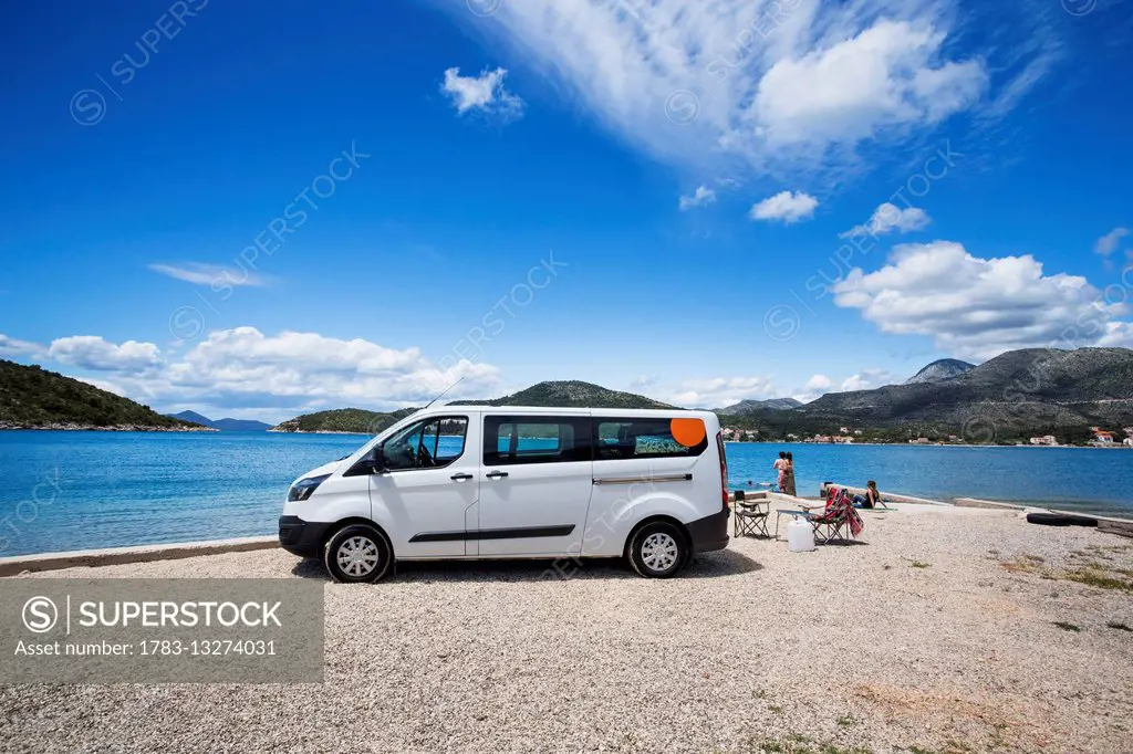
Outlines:
POLYGON ((927 335, 957 358, 1031 346, 1092 345, 1118 337, 1127 312, 1080 276, 1046 275, 1030 255, 983 259, 949 241, 905 245, 874 273, 850 271, 835 303, 860 309, 883 332, 927 335))

